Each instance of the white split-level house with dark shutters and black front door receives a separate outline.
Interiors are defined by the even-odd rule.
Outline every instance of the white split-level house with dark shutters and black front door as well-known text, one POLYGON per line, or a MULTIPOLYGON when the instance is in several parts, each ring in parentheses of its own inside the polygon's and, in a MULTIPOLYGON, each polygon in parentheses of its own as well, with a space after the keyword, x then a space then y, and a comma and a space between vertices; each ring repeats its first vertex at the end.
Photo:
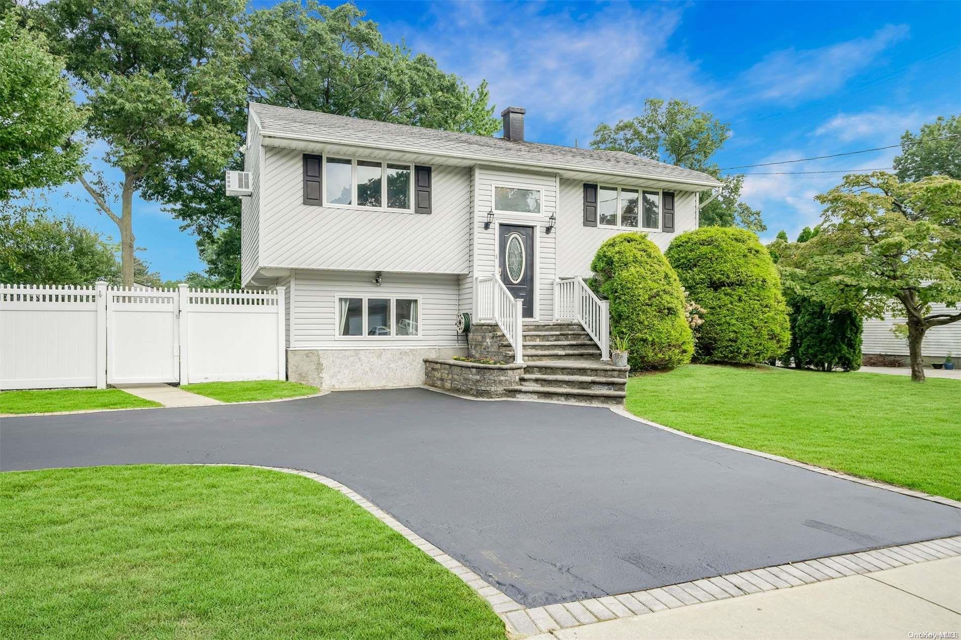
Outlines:
POLYGON ((524 114, 484 137, 250 104, 242 280, 285 287, 291 380, 420 384, 424 357, 467 353, 456 319, 489 315, 495 288, 525 320, 559 317, 557 281, 589 276, 604 239, 642 231, 664 249, 720 186, 526 141, 524 114))

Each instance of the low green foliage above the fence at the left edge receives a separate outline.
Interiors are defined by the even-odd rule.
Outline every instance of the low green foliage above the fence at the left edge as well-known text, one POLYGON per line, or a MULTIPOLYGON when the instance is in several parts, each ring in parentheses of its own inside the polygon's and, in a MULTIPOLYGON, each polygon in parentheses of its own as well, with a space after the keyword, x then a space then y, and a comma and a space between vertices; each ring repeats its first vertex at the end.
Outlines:
POLYGON ((91 284, 115 282, 116 247, 69 217, 44 209, 0 210, 0 282, 91 284))

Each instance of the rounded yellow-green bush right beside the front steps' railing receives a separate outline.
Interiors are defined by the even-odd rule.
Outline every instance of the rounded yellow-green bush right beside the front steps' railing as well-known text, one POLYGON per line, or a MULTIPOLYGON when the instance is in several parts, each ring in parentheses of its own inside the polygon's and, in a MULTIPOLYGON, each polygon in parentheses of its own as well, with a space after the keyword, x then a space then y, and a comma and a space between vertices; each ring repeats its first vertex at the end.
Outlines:
POLYGON ((591 262, 591 286, 610 302, 610 333, 628 339, 633 370, 691 361, 694 338, 684 319, 678 275, 646 234, 608 238, 591 262))

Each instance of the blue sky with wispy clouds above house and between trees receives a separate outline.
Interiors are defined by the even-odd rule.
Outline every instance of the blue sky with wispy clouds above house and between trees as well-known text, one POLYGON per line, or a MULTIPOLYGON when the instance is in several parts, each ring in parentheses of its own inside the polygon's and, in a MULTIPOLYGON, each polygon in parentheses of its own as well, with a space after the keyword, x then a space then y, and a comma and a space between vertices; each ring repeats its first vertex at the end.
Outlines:
MULTIPOLYGON (((272 4, 257 0, 254 8, 272 4)), ((498 113, 528 110, 528 139, 584 146, 599 122, 681 98, 733 135, 722 167, 895 144, 905 129, 961 112, 961 3, 359 2, 391 41, 472 86, 490 85, 498 113)), ((897 149, 762 171, 890 167, 897 149)), ((841 174, 754 175, 743 198, 769 239, 817 222, 813 196, 841 174)), ((50 204, 116 236, 82 188, 50 204)), ((165 279, 200 270, 194 238, 159 203, 137 200, 141 256, 165 279)))

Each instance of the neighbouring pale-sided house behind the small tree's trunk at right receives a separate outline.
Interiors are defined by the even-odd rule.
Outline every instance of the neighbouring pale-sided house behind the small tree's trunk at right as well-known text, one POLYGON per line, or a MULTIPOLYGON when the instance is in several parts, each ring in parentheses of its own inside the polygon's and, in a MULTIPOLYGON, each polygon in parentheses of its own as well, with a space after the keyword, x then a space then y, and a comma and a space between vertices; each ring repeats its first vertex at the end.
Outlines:
MULTIPOLYGON (((957 313, 957 310, 946 305, 931 305, 932 313, 957 313)), ((891 331, 903 324, 904 318, 896 318, 890 313, 885 314, 884 320, 864 321, 861 353, 866 365, 907 365, 910 362, 907 339, 891 331)), ((924 333, 921 352, 925 363, 943 362, 949 354, 954 359, 961 357, 961 322, 928 329, 924 333)))

